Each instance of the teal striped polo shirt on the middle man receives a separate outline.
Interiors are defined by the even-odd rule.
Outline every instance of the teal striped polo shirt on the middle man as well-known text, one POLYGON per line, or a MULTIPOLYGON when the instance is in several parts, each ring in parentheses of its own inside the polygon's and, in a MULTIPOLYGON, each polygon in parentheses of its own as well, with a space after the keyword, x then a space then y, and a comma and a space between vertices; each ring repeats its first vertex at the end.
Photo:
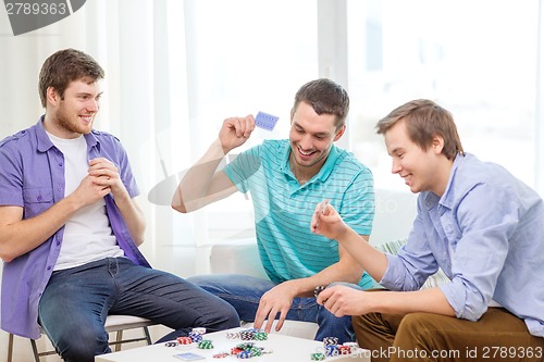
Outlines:
MULTIPOLYGON (((242 192, 250 192, 262 265, 274 283, 309 277, 338 262, 338 242, 310 232, 318 202, 329 199, 344 222, 370 235, 374 219, 371 171, 332 146, 320 172, 300 185, 289 167, 287 139, 265 140, 223 168, 242 192)), ((364 242, 361 240, 361 242, 364 242)), ((373 286, 364 273, 359 285, 373 286)))

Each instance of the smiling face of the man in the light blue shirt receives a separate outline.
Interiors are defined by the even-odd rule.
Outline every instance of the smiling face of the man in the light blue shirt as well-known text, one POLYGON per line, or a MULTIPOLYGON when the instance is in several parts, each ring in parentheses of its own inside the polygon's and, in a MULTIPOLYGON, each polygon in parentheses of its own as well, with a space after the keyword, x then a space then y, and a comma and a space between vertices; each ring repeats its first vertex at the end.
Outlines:
POLYGON ((392 173, 403 177, 410 191, 444 194, 453 160, 442 153, 443 138, 434 137, 424 151, 409 138, 403 120, 387 129, 384 137, 387 153, 393 158, 392 173))

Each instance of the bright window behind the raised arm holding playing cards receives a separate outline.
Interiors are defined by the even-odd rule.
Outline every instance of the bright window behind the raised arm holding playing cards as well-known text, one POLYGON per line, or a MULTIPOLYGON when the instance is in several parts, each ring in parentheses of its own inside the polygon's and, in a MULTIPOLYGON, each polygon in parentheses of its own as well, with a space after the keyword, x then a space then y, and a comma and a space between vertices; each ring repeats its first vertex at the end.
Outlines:
MULTIPOLYGON (((187 0, 184 12, 185 27, 172 22, 170 33, 185 34, 181 42, 186 49, 172 47, 171 62, 186 57, 188 122, 184 129, 172 127, 188 137, 190 153, 171 161, 175 170, 198 160, 230 116, 258 111, 280 116, 273 132, 257 128, 235 153, 265 138, 286 138, 296 91, 318 76, 316 1, 187 0)), ((174 116, 172 122, 184 121, 174 116)), ((171 153, 184 154, 182 146, 173 142, 171 153)), ((210 204, 194 217, 196 233, 202 234, 197 246, 254 235, 252 204, 242 195, 210 204)))

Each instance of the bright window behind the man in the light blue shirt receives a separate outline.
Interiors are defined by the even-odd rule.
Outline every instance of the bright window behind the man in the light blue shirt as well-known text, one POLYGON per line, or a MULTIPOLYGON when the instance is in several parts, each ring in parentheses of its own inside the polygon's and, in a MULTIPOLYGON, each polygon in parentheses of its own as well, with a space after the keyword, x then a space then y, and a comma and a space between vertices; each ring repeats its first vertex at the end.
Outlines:
POLYGON ((537 1, 348 0, 347 16, 351 149, 378 187, 405 186, 375 123, 417 98, 453 113, 467 152, 537 186, 537 1))

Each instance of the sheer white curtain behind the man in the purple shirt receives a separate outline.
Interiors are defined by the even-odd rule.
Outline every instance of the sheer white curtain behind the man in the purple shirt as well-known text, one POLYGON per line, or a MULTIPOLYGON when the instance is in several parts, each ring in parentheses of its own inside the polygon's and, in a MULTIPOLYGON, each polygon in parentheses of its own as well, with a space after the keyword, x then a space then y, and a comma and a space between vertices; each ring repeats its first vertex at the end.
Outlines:
MULTIPOLYGON (((44 113, 37 83, 47 57, 64 48, 92 55, 106 71, 96 128, 114 134, 127 149, 141 191, 138 201, 148 220, 143 249, 152 263, 160 245, 172 244, 174 217, 169 207, 147 201, 148 191, 166 176, 156 141, 160 141, 164 154, 172 151, 175 141, 175 158, 191 158, 188 133, 180 133, 188 127, 186 98, 180 92, 171 93, 172 88, 180 89, 171 85, 171 73, 175 72, 170 72, 170 67, 184 70, 185 59, 176 59, 176 64, 170 62, 170 5, 180 7, 166 0, 91 0, 59 23, 16 37, 11 35, 5 13, 0 14, 4 16, 0 17, 0 138, 33 125, 44 113), (173 109, 174 127, 170 124, 173 109)), ((184 28, 183 9, 175 14, 175 22, 178 29, 184 28)), ((176 34, 175 38, 176 46, 184 49, 184 34, 176 34)), ((175 82, 178 79, 183 77, 175 82)), ((172 165, 164 166, 174 171, 172 165)), ((191 216, 185 216, 176 223, 185 224, 190 232, 191 216)))

